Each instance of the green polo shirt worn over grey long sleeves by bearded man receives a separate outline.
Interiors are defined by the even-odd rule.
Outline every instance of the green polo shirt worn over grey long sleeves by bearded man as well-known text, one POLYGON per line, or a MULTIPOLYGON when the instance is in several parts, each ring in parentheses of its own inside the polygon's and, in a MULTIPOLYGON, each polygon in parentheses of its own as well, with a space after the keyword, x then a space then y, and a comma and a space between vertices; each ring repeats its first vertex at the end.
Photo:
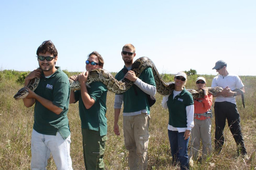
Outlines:
MULTIPOLYGON (((124 68, 126 68, 124 66, 124 68)), ((125 74, 121 70, 119 71, 115 78, 120 81, 124 78, 125 74)), ((156 86, 154 75, 152 69, 150 67, 146 68, 141 75, 139 76, 143 82, 156 86)), ((123 93, 123 101, 124 101, 124 113, 131 113, 141 111, 143 109, 147 110, 147 113, 150 114, 150 106, 148 104, 146 93, 143 92, 138 86, 133 85, 126 92, 123 93), (136 88, 134 90, 134 88, 136 88), (137 92, 137 94, 136 94, 137 92)))

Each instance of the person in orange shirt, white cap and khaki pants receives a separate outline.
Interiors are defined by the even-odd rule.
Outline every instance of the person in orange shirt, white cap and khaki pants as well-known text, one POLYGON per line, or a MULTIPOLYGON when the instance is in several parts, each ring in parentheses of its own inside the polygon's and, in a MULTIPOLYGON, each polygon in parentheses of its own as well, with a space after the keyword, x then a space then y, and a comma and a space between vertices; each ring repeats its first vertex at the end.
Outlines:
POLYGON ((212 94, 208 94, 208 88, 205 86, 206 81, 203 77, 198 77, 196 86, 204 92, 203 98, 194 99, 194 128, 191 130, 192 147, 190 150, 190 157, 193 156, 197 160, 198 150, 200 147, 200 139, 202 139, 202 157, 206 158, 212 152, 211 140, 211 106, 212 94))

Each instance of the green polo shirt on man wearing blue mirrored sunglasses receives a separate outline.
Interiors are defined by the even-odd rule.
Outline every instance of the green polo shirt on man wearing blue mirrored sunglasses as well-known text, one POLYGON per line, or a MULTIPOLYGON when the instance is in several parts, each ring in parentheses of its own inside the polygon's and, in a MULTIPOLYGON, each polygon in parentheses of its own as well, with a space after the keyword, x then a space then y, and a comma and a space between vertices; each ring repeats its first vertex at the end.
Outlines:
POLYGON ((81 90, 75 91, 75 101, 79 101, 79 115, 82 129, 100 131, 100 136, 107 134, 106 95, 108 89, 101 82, 93 82, 87 87, 88 94, 95 100, 93 106, 84 106, 81 90))

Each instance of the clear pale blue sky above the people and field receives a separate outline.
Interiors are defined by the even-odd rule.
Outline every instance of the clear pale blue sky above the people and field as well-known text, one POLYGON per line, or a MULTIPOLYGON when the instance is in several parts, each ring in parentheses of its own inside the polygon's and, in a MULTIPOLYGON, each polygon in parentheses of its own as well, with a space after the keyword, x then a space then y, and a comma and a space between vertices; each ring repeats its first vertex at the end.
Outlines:
POLYGON ((160 73, 216 75, 224 60, 229 72, 256 75, 255 0, 1 0, 0 25, 1 70, 37 68, 36 50, 50 39, 56 65, 69 71, 84 71, 98 51, 104 69, 118 72, 131 43, 160 73))

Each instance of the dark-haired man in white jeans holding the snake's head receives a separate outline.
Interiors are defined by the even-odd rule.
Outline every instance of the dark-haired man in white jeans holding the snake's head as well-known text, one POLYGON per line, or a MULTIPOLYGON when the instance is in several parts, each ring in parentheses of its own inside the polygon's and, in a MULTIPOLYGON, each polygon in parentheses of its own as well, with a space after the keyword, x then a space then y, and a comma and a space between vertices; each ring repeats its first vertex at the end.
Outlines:
POLYGON ((26 107, 34 107, 31 136, 31 169, 45 169, 52 153, 58 170, 72 170, 68 107, 70 85, 67 75, 56 67, 58 52, 51 40, 37 49, 38 69, 25 78, 25 86, 40 78, 38 87, 23 99, 26 107))

